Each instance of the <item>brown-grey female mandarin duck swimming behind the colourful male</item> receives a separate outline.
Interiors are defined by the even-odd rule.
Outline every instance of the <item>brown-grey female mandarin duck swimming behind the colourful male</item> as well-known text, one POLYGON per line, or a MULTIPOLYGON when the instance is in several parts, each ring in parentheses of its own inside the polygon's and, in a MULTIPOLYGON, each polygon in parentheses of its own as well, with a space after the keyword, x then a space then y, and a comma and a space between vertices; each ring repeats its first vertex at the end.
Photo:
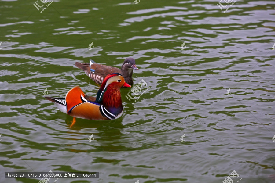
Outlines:
POLYGON ((130 57, 124 60, 121 70, 116 67, 95 63, 93 60, 90 60, 90 64, 75 62, 75 66, 84 70, 87 76, 97 84, 101 84, 108 74, 116 72, 120 73, 124 77, 125 82, 132 86, 134 84, 132 79, 133 69, 138 70, 135 59, 130 57))

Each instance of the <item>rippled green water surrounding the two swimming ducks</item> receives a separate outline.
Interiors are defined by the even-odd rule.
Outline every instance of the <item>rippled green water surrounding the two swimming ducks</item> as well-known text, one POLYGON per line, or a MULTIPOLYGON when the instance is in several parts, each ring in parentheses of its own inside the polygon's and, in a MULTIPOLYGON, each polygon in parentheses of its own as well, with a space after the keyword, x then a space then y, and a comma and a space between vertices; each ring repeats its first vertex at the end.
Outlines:
POLYGON ((100 172, 56 183, 221 183, 233 170, 234 183, 274 182, 275 2, 238 0, 226 13, 218 3, 54 0, 42 11, 0 1, 0 182, 37 183, 4 172, 50 170, 100 172), (71 127, 43 97, 76 85, 94 96, 74 63, 127 57, 134 83, 150 88, 136 102, 121 89, 117 120, 71 127))

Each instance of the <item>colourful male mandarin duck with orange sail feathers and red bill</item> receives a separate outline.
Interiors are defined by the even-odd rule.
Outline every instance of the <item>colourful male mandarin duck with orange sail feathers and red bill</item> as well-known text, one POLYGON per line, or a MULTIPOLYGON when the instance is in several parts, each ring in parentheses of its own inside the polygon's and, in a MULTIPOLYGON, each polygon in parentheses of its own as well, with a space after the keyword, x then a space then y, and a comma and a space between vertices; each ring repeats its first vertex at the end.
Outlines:
POLYGON ((87 96, 79 86, 72 88, 65 98, 47 97, 57 108, 70 116, 90 120, 113 120, 123 113, 121 87, 131 87, 119 73, 105 77, 97 97, 87 96))

